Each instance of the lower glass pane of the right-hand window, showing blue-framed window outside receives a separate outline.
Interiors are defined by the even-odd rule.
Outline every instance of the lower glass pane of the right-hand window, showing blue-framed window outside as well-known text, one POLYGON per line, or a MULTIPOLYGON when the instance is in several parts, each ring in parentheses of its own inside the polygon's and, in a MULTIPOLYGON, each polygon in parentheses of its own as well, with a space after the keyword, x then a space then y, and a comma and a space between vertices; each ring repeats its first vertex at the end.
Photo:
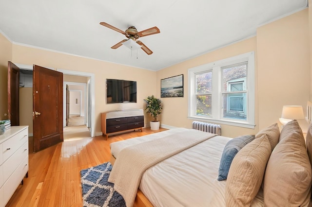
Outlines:
POLYGON ((223 94, 223 118, 247 120, 246 93, 223 94))

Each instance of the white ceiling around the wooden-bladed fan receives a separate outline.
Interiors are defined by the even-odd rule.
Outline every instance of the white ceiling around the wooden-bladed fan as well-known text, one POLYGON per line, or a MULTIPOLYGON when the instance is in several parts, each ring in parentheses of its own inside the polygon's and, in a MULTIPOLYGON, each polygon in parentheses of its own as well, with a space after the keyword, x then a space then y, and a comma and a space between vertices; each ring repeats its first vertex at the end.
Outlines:
POLYGON ((307 7, 307 0, 0 0, 0 32, 22 44, 142 69, 159 70, 255 35, 272 19, 307 7), (139 38, 154 53, 121 46, 125 31, 154 26, 139 38))

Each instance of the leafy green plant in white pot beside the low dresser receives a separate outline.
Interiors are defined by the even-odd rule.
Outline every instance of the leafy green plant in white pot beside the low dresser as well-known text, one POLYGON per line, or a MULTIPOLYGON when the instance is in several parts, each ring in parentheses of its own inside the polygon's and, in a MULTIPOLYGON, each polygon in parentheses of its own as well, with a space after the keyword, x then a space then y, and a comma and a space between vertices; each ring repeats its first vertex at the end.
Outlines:
POLYGON ((153 117, 153 121, 150 122, 151 130, 158 130, 160 122, 157 121, 157 117, 161 114, 162 103, 154 95, 147 97, 144 101, 146 102, 145 110, 153 117))

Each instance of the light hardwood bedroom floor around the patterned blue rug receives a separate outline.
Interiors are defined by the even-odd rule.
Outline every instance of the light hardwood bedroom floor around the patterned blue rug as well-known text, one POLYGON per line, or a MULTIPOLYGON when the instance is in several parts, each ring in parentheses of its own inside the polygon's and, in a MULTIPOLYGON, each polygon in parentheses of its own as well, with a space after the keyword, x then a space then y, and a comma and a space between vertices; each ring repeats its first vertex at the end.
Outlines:
MULTIPOLYGON (((109 161, 110 143, 166 129, 132 131, 104 137, 64 141, 29 154, 28 178, 15 191, 6 207, 81 207, 80 171, 109 161)), ((33 152, 33 140, 29 138, 33 152)))

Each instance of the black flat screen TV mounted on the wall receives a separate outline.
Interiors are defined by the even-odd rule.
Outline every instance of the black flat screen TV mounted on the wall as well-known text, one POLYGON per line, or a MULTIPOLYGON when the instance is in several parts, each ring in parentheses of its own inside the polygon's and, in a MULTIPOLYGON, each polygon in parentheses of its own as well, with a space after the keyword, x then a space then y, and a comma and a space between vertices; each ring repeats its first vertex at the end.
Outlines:
POLYGON ((106 103, 137 103, 137 82, 106 79, 106 103))

